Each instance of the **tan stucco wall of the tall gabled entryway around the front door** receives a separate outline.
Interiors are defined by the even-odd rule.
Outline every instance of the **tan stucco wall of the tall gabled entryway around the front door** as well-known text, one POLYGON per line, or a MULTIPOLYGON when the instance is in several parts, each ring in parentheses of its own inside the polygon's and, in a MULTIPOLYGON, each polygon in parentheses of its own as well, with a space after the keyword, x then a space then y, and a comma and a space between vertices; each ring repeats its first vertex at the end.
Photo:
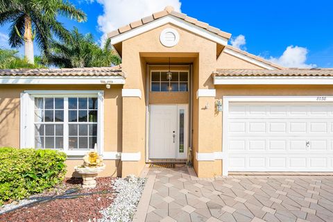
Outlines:
MULTIPOLYGON (((194 71, 194 78, 196 78, 196 85, 194 89, 198 88, 213 88, 212 78, 210 75, 212 71, 216 68, 216 43, 210 40, 207 40, 203 37, 199 37, 194 33, 189 33, 188 31, 183 30, 182 28, 178 28, 177 26, 173 26, 171 24, 167 24, 158 28, 155 28, 152 31, 148 31, 141 35, 137 35, 136 37, 130 38, 122 43, 122 56, 123 56, 123 71, 128 74, 126 78, 126 85, 124 88, 139 88, 142 89, 142 95, 145 94, 145 80, 146 80, 146 63, 142 62, 142 58, 140 59, 140 55, 144 56, 147 53, 155 53, 155 56, 161 57, 171 57, 171 58, 180 58, 180 57, 194 57, 194 60, 200 64, 196 65, 194 71), (176 46, 171 48, 165 47, 160 43, 159 37, 160 33, 164 28, 175 28, 179 35, 180 41, 176 46), (141 73, 140 73, 141 71, 141 73), (199 75, 200 73, 200 75, 199 75)), ((151 56, 151 54, 150 54, 151 56)), ((174 61, 173 61, 174 62, 174 61)), ((194 63, 196 63, 194 62, 194 63)), ((196 94, 196 91, 194 91, 196 94)), ((151 95, 154 103, 169 103, 169 101, 164 101, 164 98, 155 97, 155 95, 151 95), (158 101, 160 100, 161 101, 158 101)), ((165 96, 164 96, 165 97, 165 96)), ((185 99, 185 98, 184 98, 185 99)), ((135 152, 141 151, 142 158, 144 158, 145 153, 145 110, 146 104, 144 103, 144 96, 142 99, 133 98, 131 101, 131 105, 135 106, 136 112, 130 112, 126 110, 128 105, 125 105, 126 101, 129 101, 129 98, 123 98, 123 151, 135 152), (136 123, 133 123, 136 121, 136 123), (124 135, 127 132, 132 135, 129 137, 124 135), (137 141, 137 142, 135 142, 137 141)), ((173 99, 171 99, 173 100, 173 99)), ((178 99, 177 99, 178 100, 178 99)), ((181 101, 182 102, 182 101, 181 101)), ((194 112, 196 112, 197 117, 205 118, 205 112, 199 110, 198 103, 194 102, 194 112)), ((199 120, 200 121, 200 120, 199 120)), ((210 121, 214 121, 211 119, 210 121)), ((197 150, 198 148, 198 135, 203 134, 205 132, 198 128, 198 124, 194 126, 194 148, 197 150)), ((203 139, 201 142, 202 148, 206 147, 205 142, 207 139, 203 139)), ((144 162, 139 162, 137 164, 126 162, 123 163, 128 165, 127 168, 131 168, 130 170, 126 170, 126 173, 138 173, 144 167, 144 162), (139 170, 137 170, 139 169, 139 170)), ((124 173, 124 165, 123 165, 123 173, 124 173)))

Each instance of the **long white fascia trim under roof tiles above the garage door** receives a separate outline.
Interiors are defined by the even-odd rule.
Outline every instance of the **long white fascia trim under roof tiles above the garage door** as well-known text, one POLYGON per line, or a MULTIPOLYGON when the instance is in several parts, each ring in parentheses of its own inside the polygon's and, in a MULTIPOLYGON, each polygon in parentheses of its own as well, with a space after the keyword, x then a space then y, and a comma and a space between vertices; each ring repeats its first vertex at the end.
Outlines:
POLYGON ((215 76, 214 85, 332 85, 331 76, 215 76))

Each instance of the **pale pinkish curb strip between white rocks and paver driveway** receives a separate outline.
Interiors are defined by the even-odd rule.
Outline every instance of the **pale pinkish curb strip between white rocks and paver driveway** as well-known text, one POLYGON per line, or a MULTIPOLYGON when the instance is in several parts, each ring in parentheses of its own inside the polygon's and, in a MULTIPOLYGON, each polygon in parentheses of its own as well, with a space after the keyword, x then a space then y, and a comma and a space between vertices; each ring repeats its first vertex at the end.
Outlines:
POLYGON ((144 187, 144 191, 142 192, 139 205, 137 206, 137 212, 135 212, 133 217, 133 222, 142 222, 146 220, 146 215, 148 212, 149 202, 151 200, 151 194, 153 192, 155 178, 156 178, 155 174, 148 176, 146 186, 144 187))

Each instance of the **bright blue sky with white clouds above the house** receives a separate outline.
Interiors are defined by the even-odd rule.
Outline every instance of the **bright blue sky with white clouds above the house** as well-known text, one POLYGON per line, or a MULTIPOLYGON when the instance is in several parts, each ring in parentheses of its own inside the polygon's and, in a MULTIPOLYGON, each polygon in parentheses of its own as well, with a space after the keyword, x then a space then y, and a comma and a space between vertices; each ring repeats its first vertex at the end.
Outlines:
MULTIPOLYGON (((229 44, 286 67, 333 67, 333 1, 330 0, 70 0, 87 13, 78 23, 60 17, 69 29, 106 33, 171 5, 175 10, 232 33, 229 44)), ((8 48, 8 24, 0 47, 8 48)), ((18 49, 23 53, 24 49, 18 49)), ((40 51, 35 46, 35 54, 40 51)))

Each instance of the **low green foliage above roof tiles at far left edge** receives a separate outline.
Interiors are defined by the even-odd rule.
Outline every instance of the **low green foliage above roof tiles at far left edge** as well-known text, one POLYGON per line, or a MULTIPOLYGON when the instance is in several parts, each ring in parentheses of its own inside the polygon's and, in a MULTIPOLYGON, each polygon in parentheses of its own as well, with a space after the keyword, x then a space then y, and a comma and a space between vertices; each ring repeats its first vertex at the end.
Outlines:
POLYGON ((42 58, 35 56, 35 64, 29 63, 26 58, 17 56, 18 51, 0 49, 0 69, 34 69, 44 68, 42 58))

